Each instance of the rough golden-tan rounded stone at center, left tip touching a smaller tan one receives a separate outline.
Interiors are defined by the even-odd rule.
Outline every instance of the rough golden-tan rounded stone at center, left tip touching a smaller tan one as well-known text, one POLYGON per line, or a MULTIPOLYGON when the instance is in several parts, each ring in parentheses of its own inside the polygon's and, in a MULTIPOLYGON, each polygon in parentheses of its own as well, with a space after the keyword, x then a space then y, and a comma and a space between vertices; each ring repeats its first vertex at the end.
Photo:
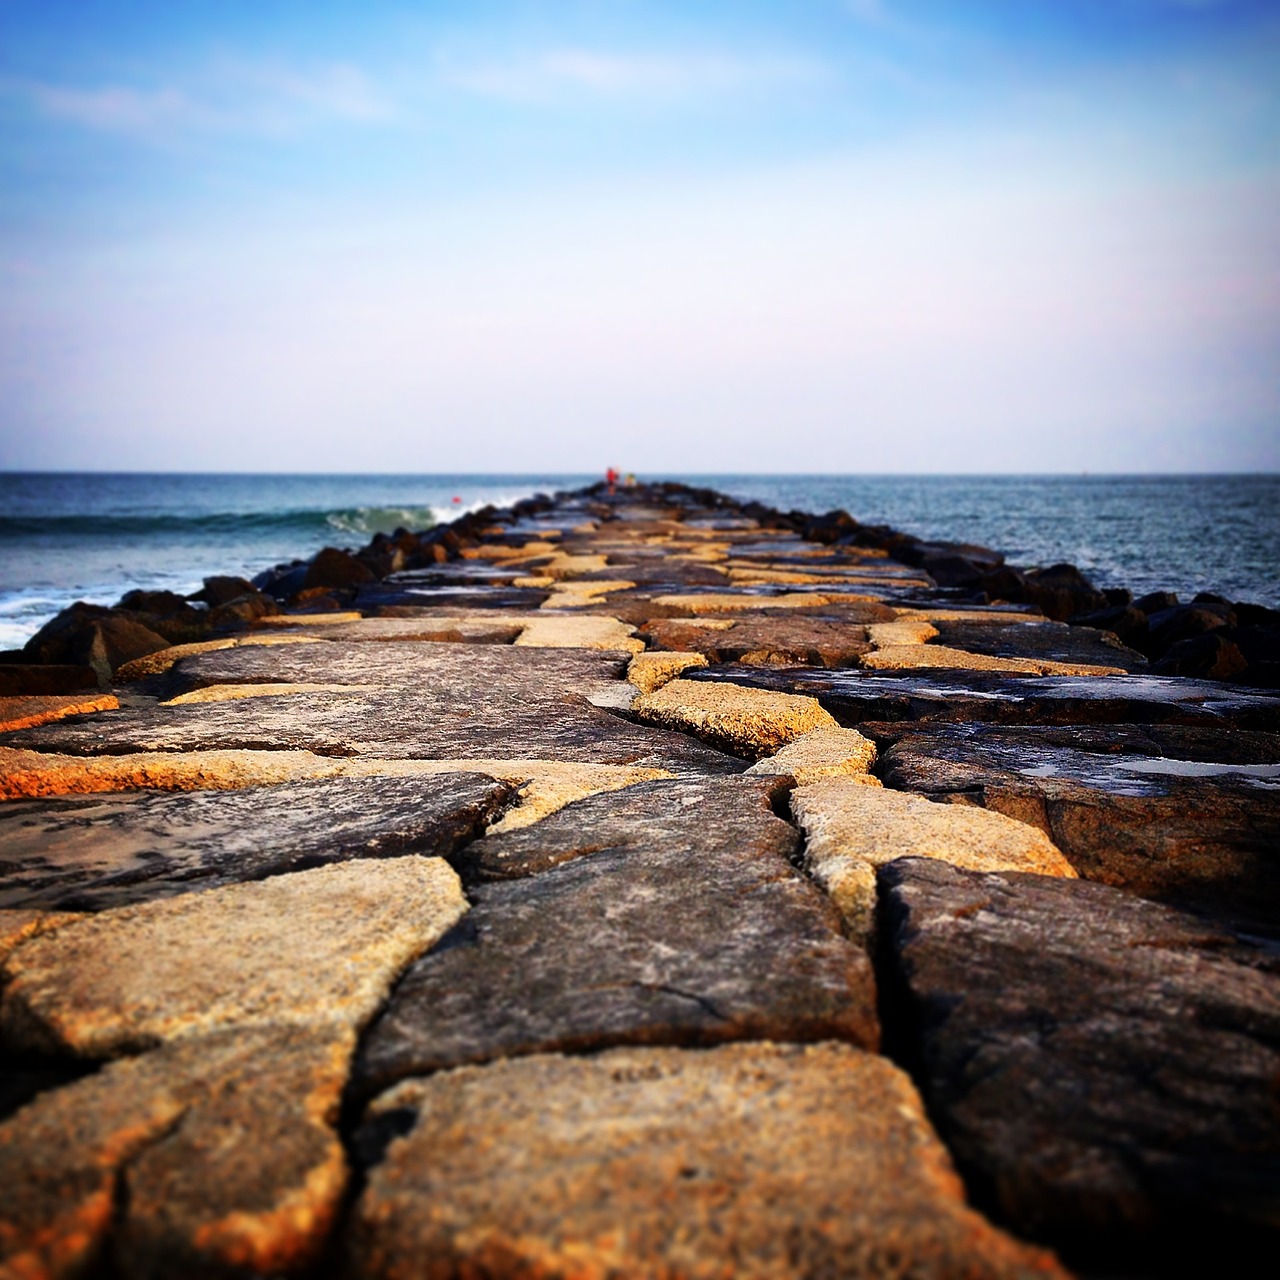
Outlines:
POLYGON ((696 733, 739 755, 760 758, 801 733, 838 728, 817 698, 773 694, 745 685, 672 680, 641 694, 632 713, 650 724, 696 733))

